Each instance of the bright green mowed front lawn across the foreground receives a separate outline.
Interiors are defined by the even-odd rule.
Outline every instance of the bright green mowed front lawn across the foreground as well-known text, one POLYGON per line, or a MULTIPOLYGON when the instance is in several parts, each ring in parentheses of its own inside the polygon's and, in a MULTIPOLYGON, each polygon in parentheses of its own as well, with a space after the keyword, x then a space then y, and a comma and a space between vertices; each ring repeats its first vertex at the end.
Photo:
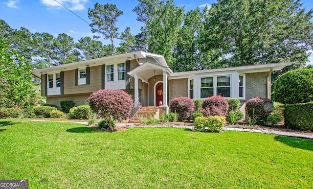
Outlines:
POLYGON ((311 188, 313 141, 0 120, 0 179, 29 188, 311 188))

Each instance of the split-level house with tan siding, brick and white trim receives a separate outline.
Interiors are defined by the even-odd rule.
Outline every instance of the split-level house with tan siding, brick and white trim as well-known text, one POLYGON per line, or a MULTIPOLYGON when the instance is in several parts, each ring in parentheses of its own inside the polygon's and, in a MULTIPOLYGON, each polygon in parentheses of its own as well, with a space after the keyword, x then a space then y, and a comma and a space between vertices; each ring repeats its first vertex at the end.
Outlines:
POLYGON ((33 71, 41 75, 42 96, 47 104, 62 100, 83 105, 94 91, 120 89, 141 106, 167 106, 171 99, 186 96, 205 99, 222 95, 239 98, 270 98, 271 72, 291 63, 272 63, 214 70, 173 72, 162 55, 136 51, 33 71))

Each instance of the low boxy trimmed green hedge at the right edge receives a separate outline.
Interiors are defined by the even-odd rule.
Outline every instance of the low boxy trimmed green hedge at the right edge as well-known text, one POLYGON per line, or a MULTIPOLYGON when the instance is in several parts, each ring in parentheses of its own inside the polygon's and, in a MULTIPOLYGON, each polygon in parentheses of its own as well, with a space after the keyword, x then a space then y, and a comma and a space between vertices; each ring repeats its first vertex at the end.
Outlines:
POLYGON ((313 102, 287 104, 284 114, 288 128, 313 130, 313 102))

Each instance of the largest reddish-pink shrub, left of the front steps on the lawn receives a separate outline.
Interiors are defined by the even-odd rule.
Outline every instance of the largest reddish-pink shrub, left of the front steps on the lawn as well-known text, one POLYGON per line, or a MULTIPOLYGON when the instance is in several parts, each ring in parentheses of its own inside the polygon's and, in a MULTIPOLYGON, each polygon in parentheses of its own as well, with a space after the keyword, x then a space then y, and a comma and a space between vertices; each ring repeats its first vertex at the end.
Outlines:
POLYGON ((129 118, 133 105, 131 95, 122 90, 101 89, 90 95, 89 106, 102 118, 112 116, 121 121, 129 118))

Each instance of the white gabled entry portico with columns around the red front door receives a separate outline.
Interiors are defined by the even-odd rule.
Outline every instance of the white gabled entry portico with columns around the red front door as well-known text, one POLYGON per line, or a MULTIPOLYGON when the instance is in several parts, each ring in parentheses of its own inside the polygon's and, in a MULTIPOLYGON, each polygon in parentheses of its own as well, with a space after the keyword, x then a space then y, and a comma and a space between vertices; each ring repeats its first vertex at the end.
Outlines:
POLYGON ((134 100, 136 101, 139 96, 139 80, 148 85, 148 93, 143 94, 147 96, 144 99, 148 99, 148 106, 159 106, 159 102, 162 102, 162 106, 168 104, 168 74, 173 72, 168 67, 151 63, 149 61, 136 67, 134 70, 128 72, 128 74, 134 77, 134 100))

